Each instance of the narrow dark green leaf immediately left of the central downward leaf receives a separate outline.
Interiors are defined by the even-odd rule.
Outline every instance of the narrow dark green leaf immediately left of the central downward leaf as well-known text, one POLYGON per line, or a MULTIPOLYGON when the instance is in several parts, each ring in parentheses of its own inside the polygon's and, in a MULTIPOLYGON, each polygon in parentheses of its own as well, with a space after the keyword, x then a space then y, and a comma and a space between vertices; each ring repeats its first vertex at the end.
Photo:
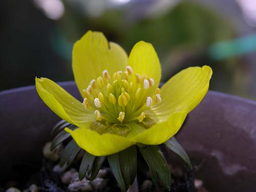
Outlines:
POLYGON ((116 178, 117 183, 119 184, 122 190, 125 190, 125 183, 123 181, 121 168, 120 168, 120 160, 119 160, 119 153, 115 153, 108 156, 110 168, 114 177, 116 178))

